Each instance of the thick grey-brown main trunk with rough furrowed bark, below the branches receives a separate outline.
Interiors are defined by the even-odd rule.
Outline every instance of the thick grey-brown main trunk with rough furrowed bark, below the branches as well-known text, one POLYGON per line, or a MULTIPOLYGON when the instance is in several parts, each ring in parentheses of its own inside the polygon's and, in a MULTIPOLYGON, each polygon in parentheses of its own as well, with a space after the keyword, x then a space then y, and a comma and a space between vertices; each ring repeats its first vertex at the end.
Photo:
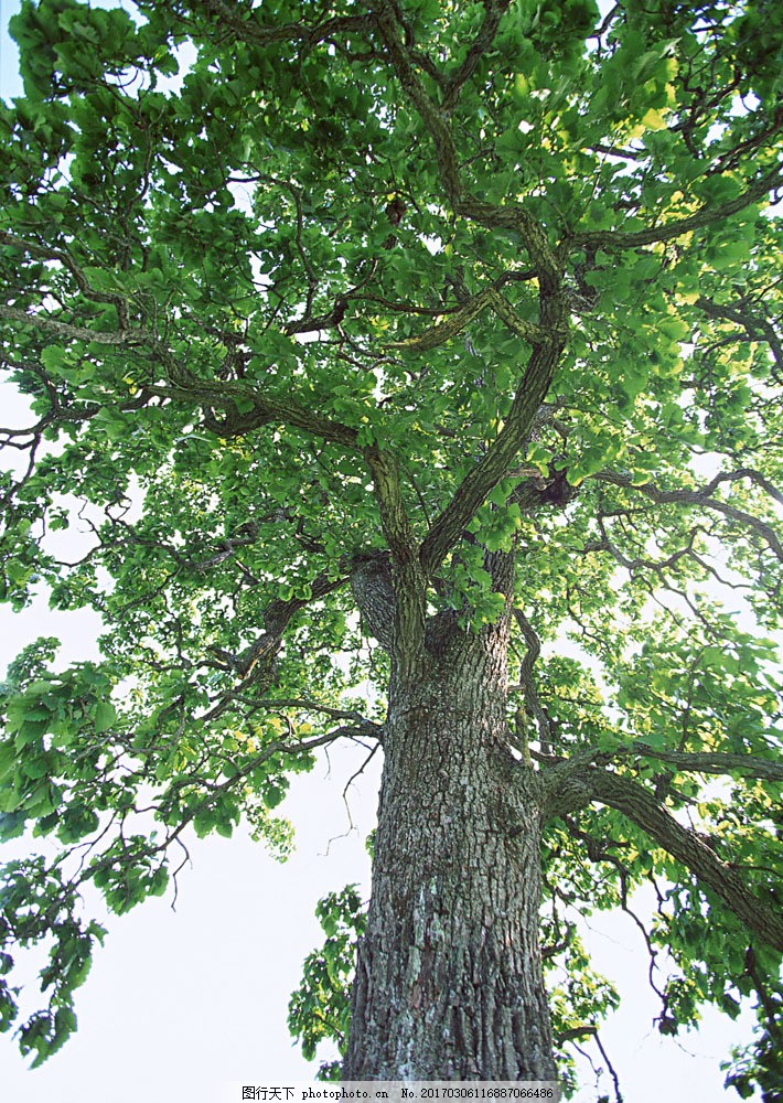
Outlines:
POLYGON ((345 1080, 553 1080, 535 775, 505 735, 507 620, 431 621, 396 676, 345 1080))

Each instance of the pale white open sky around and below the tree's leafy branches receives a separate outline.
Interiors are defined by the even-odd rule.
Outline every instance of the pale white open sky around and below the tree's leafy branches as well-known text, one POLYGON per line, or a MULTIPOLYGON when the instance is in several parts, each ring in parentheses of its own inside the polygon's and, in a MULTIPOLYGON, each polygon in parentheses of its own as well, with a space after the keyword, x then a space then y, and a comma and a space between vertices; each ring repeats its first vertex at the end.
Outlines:
MULTIPOLYGON (((17 0, 0 0, 4 98, 21 95, 15 46, 6 33, 18 8, 17 0)), ((10 417, 24 424, 8 385, 0 386, 0 410, 3 424, 10 417)), ((67 641, 63 663, 96 657, 96 621, 52 613, 42 597, 15 617, 0 606, 0 676, 21 646, 42 634, 67 641)), ((168 896, 121 918, 98 913, 109 934, 76 994, 77 1034, 34 1071, 12 1037, 0 1035, 0 1100, 217 1103, 225 1081, 311 1080, 317 1064, 293 1048, 287 1005, 304 956, 323 941, 317 901, 350 882, 369 895, 364 839, 374 826, 379 763, 351 788, 346 806, 343 789, 360 764, 355 750, 335 748, 312 773, 292 779, 279 810, 297 827, 288 863, 275 861, 243 832, 230 839, 191 838, 192 868, 180 876, 175 910, 168 896)), ((31 842, 0 847, 0 861, 24 853, 31 842)), ((599 917, 589 921, 584 938, 598 970, 624 997, 601 1039, 625 1103, 739 1100, 722 1088, 719 1062, 732 1045, 749 1039, 750 1016, 731 1022, 707 1008, 697 1035, 662 1038, 653 1026, 658 1007, 646 985, 646 952, 632 921, 599 917)), ((34 968, 29 973, 32 978, 34 968)), ((577 1103, 596 1097, 594 1078, 588 1074, 584 1084, 577 1103)), ((612 1094, 605 1070, 600 1085, 612 1094)))

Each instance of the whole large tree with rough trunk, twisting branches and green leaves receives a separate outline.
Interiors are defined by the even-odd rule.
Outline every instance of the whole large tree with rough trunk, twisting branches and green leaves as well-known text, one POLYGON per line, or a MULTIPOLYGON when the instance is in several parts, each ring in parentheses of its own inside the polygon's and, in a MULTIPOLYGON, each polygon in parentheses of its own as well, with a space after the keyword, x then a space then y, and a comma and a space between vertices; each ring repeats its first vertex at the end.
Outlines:
POLYGON ((3 596, 105 624, 3 693, 2 834, 61 846, 2 889, 6 950, 51 949, 36 1061, 103 936, 86 886, 163 892, 189 825, 285 850, 289 774, 347 739, 383 748, 372 900, 322 906, 310 1051, 568 1075, 615 1002, 575 917, 648 882, 659 1029, 754 995, 732 1075, 779 1097, 770 14, 25 0, 3 596))

